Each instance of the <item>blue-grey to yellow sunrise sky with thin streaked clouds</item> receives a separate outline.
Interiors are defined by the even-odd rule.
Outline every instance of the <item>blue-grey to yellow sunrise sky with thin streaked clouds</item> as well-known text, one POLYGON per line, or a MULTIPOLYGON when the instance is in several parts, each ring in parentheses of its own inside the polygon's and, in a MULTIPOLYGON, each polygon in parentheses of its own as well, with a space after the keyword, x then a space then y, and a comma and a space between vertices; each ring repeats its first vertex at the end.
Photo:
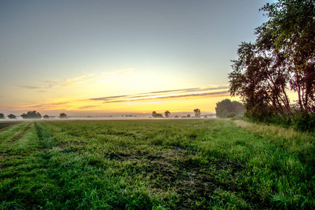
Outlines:
POLYGON ((268 2, 2 0, 0 113, 214 113, 268 2))

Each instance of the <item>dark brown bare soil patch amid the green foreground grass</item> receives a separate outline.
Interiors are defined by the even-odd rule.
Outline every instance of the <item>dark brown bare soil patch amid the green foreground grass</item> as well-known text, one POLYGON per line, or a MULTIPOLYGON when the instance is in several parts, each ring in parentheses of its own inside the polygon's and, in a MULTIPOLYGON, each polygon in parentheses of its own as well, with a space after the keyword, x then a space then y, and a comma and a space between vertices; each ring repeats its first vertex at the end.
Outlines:
MULTIPOLYGON (((179 195, 180 207, 190 209, 195 200, 204 198, 210 199, 210 196, 216 189, 230 189, 224 183, 220 183, 211 173, 210 168, 220 170, 230 170, 232 176, 244 168, 238 162, 229 162, 227 160, 217 160, 209 162, 207 165, 201 165, 194 160, 193 155, 183 148, 174 148, 172 151, 153 154, 110 154, 110 159, 120 161, 132 161, 137 164, 147 165, 141 174, 150 174, 152 185, 151 190, 158 192, 175 188, 179 195)), ((232 178, 231 178, 232 179, 232 178)))

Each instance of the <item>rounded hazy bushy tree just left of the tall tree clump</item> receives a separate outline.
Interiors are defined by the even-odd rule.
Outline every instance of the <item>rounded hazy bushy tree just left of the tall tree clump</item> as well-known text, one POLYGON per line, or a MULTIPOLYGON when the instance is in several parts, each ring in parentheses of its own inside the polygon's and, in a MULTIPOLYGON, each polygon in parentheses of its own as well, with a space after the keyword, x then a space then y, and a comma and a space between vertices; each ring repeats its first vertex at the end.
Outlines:
POLYGON ((244 113, 244 105, 230 99, 223 99, 216 103, 216 116, 218 118, 234 118, 244 113))

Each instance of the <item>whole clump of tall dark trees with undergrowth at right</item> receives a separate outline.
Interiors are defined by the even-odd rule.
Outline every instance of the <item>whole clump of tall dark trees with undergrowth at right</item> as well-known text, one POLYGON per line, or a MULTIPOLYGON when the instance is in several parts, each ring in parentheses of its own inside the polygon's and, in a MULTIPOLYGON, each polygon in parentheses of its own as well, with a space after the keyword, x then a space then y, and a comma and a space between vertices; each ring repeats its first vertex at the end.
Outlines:
POLYGON ((255 43, 239 45, 228 76, 247 118, 314 130, 314 8, 314 1, 278 0, 260 9, 269 20, 255 29, 255 43), (294 105, 288 90, 297 94, 294 105))

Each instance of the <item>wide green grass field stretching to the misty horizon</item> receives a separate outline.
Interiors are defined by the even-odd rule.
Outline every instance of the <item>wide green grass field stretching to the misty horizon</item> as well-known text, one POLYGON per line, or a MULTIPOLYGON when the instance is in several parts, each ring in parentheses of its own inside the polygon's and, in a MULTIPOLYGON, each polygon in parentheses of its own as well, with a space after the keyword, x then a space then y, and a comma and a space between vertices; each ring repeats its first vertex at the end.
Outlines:
POLYGON ((315 209, 314 139, 215 119, 0 123, 0 209, 315 209))

